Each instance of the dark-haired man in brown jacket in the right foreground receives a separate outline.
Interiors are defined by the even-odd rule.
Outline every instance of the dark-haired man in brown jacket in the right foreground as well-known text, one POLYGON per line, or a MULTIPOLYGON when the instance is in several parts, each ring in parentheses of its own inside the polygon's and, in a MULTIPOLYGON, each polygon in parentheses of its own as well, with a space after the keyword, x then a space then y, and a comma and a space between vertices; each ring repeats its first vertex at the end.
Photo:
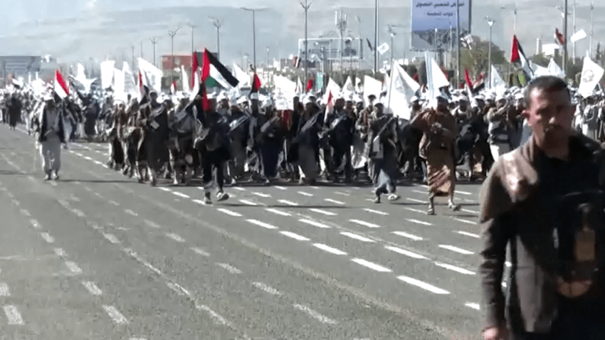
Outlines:
POLYGON ((483 338, 605 339, 604 150, 572 129, 564 80, 536 78, 525 99, 532 136, 481 191, 483 338))

